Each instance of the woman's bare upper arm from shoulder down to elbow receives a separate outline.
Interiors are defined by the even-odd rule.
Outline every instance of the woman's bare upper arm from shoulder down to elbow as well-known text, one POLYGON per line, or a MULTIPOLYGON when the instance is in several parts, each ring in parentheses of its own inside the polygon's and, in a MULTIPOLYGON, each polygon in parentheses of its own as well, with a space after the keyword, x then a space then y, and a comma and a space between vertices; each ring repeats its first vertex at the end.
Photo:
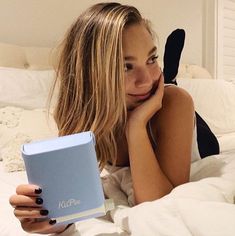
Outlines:
POLYGON ((183 89, 166 89, 166 105, 155 119, 156 156, 173 187, 189 181, 195 110, 183 89))

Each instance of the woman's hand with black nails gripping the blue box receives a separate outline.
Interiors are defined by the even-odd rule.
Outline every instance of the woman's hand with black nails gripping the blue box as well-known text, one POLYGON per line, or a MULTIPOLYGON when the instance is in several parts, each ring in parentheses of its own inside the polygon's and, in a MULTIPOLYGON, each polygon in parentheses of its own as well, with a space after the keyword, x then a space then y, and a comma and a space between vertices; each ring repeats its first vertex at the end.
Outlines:
POLYGON ((22 228, 28 233, 60 233, 67 225, 53 225, 47 209, 43 208, 43 199, 40 197, 42 190, 31 184, 19 185, 16 194, 9 199, 14 208, 14 214, 21 222, 22 228))

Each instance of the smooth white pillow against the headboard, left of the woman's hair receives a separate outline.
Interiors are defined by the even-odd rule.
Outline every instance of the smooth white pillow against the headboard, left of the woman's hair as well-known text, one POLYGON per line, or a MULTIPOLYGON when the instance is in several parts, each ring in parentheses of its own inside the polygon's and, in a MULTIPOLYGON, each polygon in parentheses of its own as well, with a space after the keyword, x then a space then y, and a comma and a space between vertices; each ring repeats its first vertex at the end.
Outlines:
POLYGON ((0 67, 0 107, 45 108, 54 76, 53 70, 0 67))

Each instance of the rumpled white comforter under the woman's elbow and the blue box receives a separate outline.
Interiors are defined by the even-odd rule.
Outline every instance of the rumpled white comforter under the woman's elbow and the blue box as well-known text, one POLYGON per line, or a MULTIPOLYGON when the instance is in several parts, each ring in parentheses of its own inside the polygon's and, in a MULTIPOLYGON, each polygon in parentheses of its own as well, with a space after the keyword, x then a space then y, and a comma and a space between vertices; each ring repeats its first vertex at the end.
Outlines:
MULTIPOLYGON (((110 217, 78 222, 60 235, 234 236, 235 136, 228 139, 220 139, 228 144, 222 146, 222 154, 192 164, 190 183, 153 202, 128 206, 133 200, 128 168, 106 176, 105 192, 117 204, 110 217)), ((1 235, 28 235, 21 230, 8 204, 15 186, 26 181, 25 172, 4 173, 0 169, 0 173, 1 235)))

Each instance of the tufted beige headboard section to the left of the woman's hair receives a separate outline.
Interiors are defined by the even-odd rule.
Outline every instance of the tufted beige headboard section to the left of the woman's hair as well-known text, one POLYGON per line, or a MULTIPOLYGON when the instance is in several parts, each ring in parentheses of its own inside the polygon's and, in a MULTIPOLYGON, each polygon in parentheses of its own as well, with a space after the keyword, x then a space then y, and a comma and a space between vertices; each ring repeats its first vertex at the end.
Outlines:
POLYGON ((55 50, 46 47, 22 47, 0 43, 0 66, 48 70, 55 65, 55 50))

